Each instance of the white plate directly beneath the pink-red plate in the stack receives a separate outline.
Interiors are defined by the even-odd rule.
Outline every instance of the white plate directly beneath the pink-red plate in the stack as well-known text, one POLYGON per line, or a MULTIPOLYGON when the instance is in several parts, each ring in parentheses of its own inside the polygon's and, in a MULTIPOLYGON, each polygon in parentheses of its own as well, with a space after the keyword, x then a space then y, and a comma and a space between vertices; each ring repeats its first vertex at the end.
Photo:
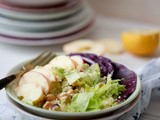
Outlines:
POLYGON ((33 12, 23 12, 23 11, 13 11, 9 9, 0 8, 0 15, 7 17, 22 19, 22 20, 49 20, 49 19, 58 19, 73 13, 76 13, 86 5, 85 2, 80 2, 73 6, 72 8, 60 12, 43 12, 43 13, 33 13, 33 12))

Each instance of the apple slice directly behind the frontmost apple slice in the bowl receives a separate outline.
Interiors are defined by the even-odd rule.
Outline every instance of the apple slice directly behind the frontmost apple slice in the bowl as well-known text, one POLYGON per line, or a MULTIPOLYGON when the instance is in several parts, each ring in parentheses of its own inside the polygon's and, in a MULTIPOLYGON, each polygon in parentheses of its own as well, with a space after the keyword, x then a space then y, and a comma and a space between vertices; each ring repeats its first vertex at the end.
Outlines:
POLYGON ((19 85, 28 83, 39 85, 45 94, 47 94, 51 88, 51 82, 47 80, 45 76, 35 71, 25 73, 19 81, 19 85))

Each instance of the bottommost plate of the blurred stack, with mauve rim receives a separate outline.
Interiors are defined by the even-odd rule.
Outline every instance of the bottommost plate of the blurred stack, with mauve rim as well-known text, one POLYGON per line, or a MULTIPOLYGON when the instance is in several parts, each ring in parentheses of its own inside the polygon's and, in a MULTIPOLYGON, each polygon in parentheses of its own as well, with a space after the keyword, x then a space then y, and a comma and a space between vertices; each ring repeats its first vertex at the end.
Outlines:
POLYGON ((16 38, 8 38, 8 37, 3 37, 0 36, 0 41, 4 43, 9 43, 9 44, 15 44, 15 45, 27 45, 27 46, 42 46, 42 45, 54 45, 54 44, 60 44, 60 43, 65 43, 71 40, 76 40, 79 38, 82 38, 89 34, 94 28, 93 23, 89 25, 87 28, 84 28, 83 30, 80 30, 79 32, 61 37, 61 38, 56 38, 56 39, 43 39, 43 40, 26 40, 26 39, 16 39, 16 38))

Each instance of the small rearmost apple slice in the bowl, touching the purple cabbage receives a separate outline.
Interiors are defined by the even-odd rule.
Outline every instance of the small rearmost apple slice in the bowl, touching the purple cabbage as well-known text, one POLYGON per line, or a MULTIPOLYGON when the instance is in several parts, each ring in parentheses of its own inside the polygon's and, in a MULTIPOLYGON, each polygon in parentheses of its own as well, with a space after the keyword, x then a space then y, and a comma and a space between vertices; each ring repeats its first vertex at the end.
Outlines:
POLYGON ((81 70, 84 62, 80 56, 71 56, 71 60, 75 63, 75 66, 78 70, 81 70))

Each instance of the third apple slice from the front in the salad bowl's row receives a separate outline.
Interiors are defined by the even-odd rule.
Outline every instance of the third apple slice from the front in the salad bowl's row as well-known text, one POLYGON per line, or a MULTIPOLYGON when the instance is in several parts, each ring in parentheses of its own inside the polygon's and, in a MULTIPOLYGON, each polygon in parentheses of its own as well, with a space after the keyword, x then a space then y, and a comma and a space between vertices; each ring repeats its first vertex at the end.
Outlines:
POLYGON ((31 71, 35 71, 38 72, 42 75, 44 75, 50 82, 54 82, 56 81, 56 77, 55 75, 51 72, 50 69, 47 69, 45 67, 36 67, 35 69, 31 70, 31 71))

